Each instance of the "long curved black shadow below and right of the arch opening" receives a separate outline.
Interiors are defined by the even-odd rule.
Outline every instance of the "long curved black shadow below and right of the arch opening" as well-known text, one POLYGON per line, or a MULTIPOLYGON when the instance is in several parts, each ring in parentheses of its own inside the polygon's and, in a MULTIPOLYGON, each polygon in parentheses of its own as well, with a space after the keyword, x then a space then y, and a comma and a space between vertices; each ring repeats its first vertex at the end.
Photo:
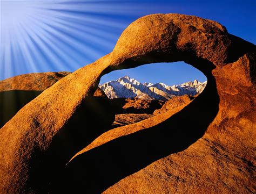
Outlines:
POLYGON ((120 179, 196 142, 218 113, 219 95, 209 69, 204 71, 208 80, 206 88, 183 110, 157 126, 122 136, 76 156, 63 171, 62 181, 58 180, 53 188, 58 189, 53 191, 59 191, 61 183, 65 185, 63 192, 103 192, 120 179))

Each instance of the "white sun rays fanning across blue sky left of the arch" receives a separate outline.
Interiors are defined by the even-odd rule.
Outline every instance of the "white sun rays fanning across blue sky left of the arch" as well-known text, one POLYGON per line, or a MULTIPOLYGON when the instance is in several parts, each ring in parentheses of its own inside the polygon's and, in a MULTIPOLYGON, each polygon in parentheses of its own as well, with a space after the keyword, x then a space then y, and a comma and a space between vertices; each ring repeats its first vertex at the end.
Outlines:
POLYGON ((1 5, 0 80, 32 72, 73 71, 91 63, 112 51, 129 24, 127 17, 147 7, 110 1, 4 1, 1 5))

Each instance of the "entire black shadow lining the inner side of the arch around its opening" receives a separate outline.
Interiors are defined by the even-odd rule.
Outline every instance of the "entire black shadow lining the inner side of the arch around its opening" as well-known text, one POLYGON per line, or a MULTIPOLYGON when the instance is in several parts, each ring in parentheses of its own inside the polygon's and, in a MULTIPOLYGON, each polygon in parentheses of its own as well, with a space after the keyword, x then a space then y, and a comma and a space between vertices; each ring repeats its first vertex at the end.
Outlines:
MULTIPOLYGON (((37 192, 103 192, 120 179, 185 150, 201 138, 218 112, 219 96, 211 73, 215 66, 211 62, 178 51, 170 60, 167 52, 156 51, 150 53, 150 57, 127 60, 118 69, 174 61, 185 61, 207 77, 206 88, 189 105, 163 123, 93 148, 65 166, 80 149, 108 130, 106 126, 114 119, 110 113, 112 108, 105 99, 92 97, 97 87, 92 88, 72 118, 54 136, 50 149, 47 152, 34 149, 29 164, 34 170, 30 170, 26 186, 37 192)), ((116 68, 107 68, 104 74, 116 68)))

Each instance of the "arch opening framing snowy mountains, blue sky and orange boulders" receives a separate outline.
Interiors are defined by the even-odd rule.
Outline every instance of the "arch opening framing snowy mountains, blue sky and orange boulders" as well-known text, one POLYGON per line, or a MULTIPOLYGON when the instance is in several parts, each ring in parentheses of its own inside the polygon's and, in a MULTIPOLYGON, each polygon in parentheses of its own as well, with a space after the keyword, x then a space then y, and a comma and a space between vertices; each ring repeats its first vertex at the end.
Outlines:
POLYGON ((179 61, 111 71, 100 78, 98 87, 110 99, 116 114, 114 128, 188 104, 206 84, 200 70, 179 61))

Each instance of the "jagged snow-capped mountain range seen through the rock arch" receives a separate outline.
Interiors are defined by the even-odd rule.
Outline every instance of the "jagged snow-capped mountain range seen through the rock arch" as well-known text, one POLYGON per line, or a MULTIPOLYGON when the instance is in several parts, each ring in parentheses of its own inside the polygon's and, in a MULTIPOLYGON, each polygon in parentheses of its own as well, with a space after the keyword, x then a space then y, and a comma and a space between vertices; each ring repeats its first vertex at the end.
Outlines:
POLYGON ((99 85, 108 98, 143 98, 168 100, 173 96, 197 95, 202 92, 207 81, 186 82, 180 85, 169 86, 164 83, 140 83, 129 76, 120 77, 116 81, 106 82, 99 85))

